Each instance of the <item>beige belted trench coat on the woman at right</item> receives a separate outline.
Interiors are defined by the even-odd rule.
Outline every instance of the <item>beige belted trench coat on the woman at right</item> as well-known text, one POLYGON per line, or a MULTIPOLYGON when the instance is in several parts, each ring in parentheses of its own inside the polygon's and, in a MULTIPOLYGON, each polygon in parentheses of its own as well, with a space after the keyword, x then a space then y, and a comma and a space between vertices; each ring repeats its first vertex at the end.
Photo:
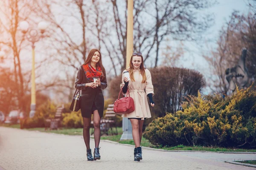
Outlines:
MULTIPOLYGON (((152 85, 151 74, 148 69, 145 69, 145 74, 147 80, 145 83, 142 83, 143 78, 140 71, 134 71, 135 81, 129 81, 128 89, 130 96, 134 99, 135 110, 131 113, 123 114, 122 117, 141 118, 142 120, 144 120, 144 118, 151 118, 147 95, 151 93, 154 96, 154 88, 152 85)), ((122 74, 122 84, 120 85, 121 88, 125 85, 124 78, 124 74, 122 74)))

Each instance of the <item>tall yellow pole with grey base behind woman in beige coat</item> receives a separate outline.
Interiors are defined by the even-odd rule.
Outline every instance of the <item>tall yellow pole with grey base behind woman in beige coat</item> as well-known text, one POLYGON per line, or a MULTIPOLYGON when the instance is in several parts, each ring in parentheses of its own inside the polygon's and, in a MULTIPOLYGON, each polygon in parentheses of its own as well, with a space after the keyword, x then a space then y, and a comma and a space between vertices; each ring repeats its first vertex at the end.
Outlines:
MULTIPOLYGON (((126 68, 129 67, 131 55, 133 53, 133 0, 128 0, 128 18, 127 18, 127 43, 126 43, 126 68)), ((128 118, 122 118, 122 136, 120 140, 132 139, 131 122, 128 118)))

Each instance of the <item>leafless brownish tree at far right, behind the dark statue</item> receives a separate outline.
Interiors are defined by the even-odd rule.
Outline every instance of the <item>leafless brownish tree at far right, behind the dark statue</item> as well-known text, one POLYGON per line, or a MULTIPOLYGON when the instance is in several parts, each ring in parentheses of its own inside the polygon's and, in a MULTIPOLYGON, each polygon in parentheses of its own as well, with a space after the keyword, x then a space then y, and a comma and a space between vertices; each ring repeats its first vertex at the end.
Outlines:
POLYGON ((225 70, 234 67, 241 55, 243 48, 247 48, 247 67, 251 77, 256 75, 256 22, 255 16, 247 17, 234 11, 227 23, 220 31, 217 48, 212 48, 209 54, 203 57, 209 63, 210 76, 208 86, 212 91, 227 93, 225 70))

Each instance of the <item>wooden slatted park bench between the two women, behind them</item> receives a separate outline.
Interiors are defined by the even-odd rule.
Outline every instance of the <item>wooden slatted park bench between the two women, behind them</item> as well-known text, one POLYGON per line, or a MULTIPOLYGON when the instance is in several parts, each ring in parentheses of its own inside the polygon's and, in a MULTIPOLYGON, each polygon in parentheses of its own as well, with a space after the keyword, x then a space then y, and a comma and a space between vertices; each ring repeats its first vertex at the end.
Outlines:
MULTIPOLYGON (((105 119, 101 119, 100 129, 101 135, 108 135, 108 131, 111 130, 112 135, 117 135, 117 127, 116 127, 116 113, 113 111, 113 104, 108 105, 107 111, 105 113, 105 119)), ((93 121, 91 121, 91 127, 93 127, 93 121)), ((92 130, 91 135, 94 133, 94 128, 92 130)))

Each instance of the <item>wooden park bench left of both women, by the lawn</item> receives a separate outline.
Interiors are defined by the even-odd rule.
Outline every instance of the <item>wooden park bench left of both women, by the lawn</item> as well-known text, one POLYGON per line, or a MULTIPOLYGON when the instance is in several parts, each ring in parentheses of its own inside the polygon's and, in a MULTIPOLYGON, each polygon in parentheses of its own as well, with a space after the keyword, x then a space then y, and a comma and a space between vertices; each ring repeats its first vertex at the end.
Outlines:
POLYGON ((64 105, 57 108, 57 111, 53 119, 44 120, 45 130, 47 130, 47 128, 49 128, 49 130, 54 130, 54 129, 58 130, 58 128, 61 127, 61 121, 62 121, 61 115, 63 111, 64 111, 64 105))

